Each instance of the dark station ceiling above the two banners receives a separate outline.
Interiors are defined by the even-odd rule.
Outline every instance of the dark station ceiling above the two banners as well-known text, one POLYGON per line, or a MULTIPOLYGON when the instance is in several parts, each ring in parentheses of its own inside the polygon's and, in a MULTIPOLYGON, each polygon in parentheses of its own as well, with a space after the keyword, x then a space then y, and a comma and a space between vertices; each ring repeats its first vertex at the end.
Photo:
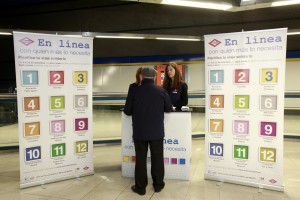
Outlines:
MULTIPOLYGON (((160 0, 1 1, 0 29, 182 36, 284 27, 289 31, 300 30, 300 5, 270 7, 273 1, 268 0, 251 0, 249 5, 239 0, 209 1, 234 6, 231 11, 221 11, 161 5, 159 2, 160 0)), ((7 36, 1 38, 0 42, 6 39, 9 43, 7 36)), ((288 36, 287 48, 299 50, 300 35, 288 36)), ((203 42, 94 40, 94 57, 201 53, 204 53, 203 42)))

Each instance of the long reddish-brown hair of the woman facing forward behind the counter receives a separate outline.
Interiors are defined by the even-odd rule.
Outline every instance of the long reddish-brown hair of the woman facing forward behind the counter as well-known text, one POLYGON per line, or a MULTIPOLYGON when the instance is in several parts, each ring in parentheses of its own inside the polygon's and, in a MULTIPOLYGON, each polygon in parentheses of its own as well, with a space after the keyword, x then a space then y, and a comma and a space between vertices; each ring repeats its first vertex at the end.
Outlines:
POLYGON ((170 62, 165 68, 165 77, 164 77, 164 82, 163 82, 163 88, 165 88, 166 90, 174 90, 174 89, 178 90, 181 83, 184 83, 184 80, 178 69, 177 64, 175 62, 170 62), (168 67, 169 66, 171 66, 175 69, 173 83, 172 83, 172 79, 168 76, 168 67))

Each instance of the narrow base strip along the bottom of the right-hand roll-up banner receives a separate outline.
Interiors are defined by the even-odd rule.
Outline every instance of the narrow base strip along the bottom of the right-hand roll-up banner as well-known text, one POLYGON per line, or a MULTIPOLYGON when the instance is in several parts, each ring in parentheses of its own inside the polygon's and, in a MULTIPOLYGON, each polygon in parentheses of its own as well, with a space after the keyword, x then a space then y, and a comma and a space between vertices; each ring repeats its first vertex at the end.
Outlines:
POLYGON ((234 181, 234 180, 229 180, 229 179, 213 177, 213 176, 210 176, 210 175, 207 175, 207 174, 204 175, 204 179, 205 180, 220 181, 220 182, 225 182, 225 183, 232 183, 232 184, 237 184, 237 185, 257 187, 258 189, 268 189, 268 190, 276 190, 276 191, 284 192, 284 186, 281 187, 281 186, 251 183, 251 182, 245 182, 245 181, 234 181))

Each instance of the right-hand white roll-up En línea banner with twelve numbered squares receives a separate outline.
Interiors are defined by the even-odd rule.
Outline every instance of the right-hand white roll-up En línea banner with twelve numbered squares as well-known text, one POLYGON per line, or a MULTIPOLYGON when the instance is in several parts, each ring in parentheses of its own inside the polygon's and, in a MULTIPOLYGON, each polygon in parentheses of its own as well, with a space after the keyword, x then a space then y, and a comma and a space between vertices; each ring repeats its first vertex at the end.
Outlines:
POLYGON ((287 29, 205 36, 205 178, 283 191, 287 29))

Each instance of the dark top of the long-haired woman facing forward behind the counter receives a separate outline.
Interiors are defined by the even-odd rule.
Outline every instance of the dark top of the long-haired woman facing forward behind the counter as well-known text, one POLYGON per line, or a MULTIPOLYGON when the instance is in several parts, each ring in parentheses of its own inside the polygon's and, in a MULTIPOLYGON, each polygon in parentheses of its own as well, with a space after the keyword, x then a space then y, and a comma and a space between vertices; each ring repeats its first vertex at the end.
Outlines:
POLYGON ((186 83, 181 83, 179 89, 168 90, 168 94, 171 98, 172 105, 177 109, 188 104, 188 86, 186 83))

